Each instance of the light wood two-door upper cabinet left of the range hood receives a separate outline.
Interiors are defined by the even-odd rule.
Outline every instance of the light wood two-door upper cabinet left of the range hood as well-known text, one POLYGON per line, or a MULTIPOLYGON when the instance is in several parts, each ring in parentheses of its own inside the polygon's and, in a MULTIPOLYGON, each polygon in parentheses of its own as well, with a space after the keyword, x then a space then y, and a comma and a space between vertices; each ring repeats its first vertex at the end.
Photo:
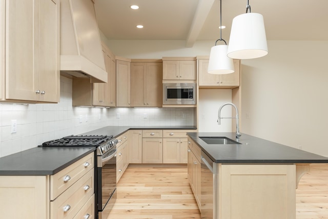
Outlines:
POLYGON ((59 0, 1 1, 0 10, 0 101, 59 102, 59 0))

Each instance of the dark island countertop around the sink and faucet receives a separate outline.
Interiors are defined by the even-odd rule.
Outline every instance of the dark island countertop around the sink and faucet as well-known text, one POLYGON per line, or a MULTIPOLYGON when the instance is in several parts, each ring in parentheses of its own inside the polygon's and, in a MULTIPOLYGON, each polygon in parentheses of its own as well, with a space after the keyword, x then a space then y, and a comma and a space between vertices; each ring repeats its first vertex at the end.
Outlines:
POLYGON ((225 136, 235 140, 234 132, 188 132, 188 136, 215 163, 227 164, 288 164, 328 163, 328 157, 277 144, 258 137, 241 134, 240 145, 211 145, 199 136, 225 136))

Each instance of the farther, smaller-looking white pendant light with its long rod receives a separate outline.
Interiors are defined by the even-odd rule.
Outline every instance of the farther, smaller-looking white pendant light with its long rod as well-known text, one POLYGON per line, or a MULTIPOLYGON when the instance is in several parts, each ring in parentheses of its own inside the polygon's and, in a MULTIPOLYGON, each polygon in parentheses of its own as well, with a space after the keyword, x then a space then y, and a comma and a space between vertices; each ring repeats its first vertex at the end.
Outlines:
POLYGON ((208 72, 210 74, 229 74, 235 72, 232 58, 227 56, 228 46, 222 39, 222 0, 220 1, 220 38, 211 48, 208 72), (226 45, 216 45, 218 41, 223 41, 226 45))

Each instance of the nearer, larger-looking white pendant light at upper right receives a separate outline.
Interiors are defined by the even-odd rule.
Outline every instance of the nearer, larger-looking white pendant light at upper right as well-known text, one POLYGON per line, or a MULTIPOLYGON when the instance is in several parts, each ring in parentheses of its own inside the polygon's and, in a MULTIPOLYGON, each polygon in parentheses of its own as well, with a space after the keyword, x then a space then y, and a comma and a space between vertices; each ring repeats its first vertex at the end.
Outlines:
POLYGON ((228 56, 236 59, 258 58, 268 54, 263 16, 251 13, 247 0, 246 13, 232 21, 228 56), (250 12, 248 13, 248 9, 250 12))

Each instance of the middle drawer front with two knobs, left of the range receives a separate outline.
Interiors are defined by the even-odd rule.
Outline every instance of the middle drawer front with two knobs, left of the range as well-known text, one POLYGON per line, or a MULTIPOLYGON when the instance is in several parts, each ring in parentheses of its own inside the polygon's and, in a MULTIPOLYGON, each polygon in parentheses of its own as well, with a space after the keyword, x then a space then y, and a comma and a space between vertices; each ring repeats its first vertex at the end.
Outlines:
POLYGON ((94 194, 94 170, 50 202, 50 219, 73 218, 94 194))

